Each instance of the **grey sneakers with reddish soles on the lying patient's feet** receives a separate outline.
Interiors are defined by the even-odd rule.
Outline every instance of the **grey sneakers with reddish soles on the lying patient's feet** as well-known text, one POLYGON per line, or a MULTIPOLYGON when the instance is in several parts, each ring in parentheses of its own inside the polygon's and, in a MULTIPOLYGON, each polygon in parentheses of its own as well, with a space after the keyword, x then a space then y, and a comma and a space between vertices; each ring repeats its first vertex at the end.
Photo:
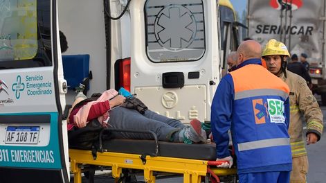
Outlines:
POLYGON ((198 119, 192 119, 190 121, 189 128, 184 128, 180 132, 181 139, 184 143, 199 143, 199 142, 206 142, 206 131, 201 129, 201 122, 198 119))

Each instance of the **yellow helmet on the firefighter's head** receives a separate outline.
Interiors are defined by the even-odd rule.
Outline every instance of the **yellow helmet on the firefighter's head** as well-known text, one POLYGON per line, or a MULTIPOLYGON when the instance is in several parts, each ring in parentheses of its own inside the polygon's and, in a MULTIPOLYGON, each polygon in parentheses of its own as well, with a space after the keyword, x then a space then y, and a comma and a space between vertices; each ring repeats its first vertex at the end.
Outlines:
POLYGON ((269 40, 262 50, 262 56, 266 55, 287 55, 290 56, 289 51, 287 51, 287 46, 282 42, 278 42, 275 39, 269 40))

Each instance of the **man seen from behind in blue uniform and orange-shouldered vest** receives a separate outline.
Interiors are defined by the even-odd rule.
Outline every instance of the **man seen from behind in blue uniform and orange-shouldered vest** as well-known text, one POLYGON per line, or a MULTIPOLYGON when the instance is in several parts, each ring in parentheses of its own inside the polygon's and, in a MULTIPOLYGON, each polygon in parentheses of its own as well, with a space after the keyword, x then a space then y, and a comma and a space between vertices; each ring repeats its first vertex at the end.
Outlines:
POLYGON ((212 101, 212 134, 217 160, 228 163, 228 130, 237 156, 240 183, 287 183, 292 167, 289 134, 289 87, 262 67, 258 42, 242 42, 237 69, 217 87, 212 101))

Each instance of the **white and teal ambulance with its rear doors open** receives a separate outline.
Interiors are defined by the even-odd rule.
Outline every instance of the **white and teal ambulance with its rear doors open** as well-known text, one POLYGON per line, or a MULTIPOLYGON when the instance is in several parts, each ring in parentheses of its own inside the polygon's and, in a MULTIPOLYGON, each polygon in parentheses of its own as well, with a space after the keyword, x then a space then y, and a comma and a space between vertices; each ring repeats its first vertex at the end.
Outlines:
POLYGON ((0 182, 69 182, 64 112, 84 78, 88 96, 125 87, 159 114, 210 121, 230 50, 218 10, 206 0, 0 1, 0 182))

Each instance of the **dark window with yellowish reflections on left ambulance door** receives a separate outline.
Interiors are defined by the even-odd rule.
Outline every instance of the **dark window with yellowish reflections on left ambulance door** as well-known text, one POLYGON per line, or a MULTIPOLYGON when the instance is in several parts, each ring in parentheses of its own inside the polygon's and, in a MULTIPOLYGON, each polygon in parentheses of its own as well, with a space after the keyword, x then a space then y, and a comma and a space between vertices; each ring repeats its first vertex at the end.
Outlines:
POLYGON ((51 66, 50 0, 0 2, 0 69, 51 66))

